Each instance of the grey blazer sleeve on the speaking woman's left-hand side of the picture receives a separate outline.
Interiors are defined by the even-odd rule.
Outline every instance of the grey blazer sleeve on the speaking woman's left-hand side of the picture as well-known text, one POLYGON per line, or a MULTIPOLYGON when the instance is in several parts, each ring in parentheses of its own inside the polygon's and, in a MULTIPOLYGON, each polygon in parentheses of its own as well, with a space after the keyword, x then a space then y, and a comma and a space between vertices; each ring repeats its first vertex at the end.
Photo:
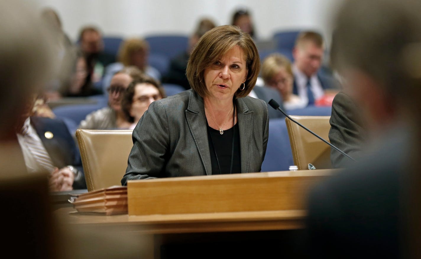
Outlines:
POLYGON ((121 180, 165 177, 168 161, 169 127, 167 113, 160 102, 153 102, 133 130, 133 148, 126 173, 121 180))

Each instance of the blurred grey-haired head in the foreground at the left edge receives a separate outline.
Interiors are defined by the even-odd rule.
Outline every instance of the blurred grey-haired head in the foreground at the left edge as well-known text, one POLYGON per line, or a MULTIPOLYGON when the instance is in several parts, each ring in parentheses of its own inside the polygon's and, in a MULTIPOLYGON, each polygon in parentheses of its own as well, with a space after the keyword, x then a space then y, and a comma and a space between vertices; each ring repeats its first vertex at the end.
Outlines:
POLYGON ((0 140, 15 134, 28 100, 48 80, 50 41, 38 13, 21 1, 0 1, 0 140))

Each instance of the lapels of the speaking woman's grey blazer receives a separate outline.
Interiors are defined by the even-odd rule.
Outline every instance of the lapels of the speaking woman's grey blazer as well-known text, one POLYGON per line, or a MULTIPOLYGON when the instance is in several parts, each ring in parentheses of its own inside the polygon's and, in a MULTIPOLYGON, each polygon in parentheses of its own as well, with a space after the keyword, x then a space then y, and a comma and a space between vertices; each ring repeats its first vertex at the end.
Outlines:
MULTIPOLYGON (((210 162, 209 141, 207 122, 205 116, 205 105, 203 98, 195 91, 189 90, 189 105, 186 110, 187 123, 195 140, 196 147, 199 151, 200 158, 207 175, 212 174, 212 165, 210 162)), ((251 97, 245 97, 251 98, 251 97)), ((240 156, 241 156, 241 172, 248 172, 250 167, 251 156, 251 139, 253 133, 253 110, 249 110, 245 104, 244 98, 235 100, 237 109, 237 125, 240 127, 240 156)))

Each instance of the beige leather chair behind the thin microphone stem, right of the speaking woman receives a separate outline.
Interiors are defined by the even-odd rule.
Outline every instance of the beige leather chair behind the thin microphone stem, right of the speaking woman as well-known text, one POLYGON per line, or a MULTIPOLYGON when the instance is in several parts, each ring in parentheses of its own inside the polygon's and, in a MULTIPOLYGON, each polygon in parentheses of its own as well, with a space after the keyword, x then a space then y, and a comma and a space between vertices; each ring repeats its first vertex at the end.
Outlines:
MULTIPOLYGON (((330 116, 290 116, 309 130, 313 131, 326 141, 329 141, 330 116)), ((304 128, 285 118, 288 128, 294 164, 298 170, 308 170, 309 164, 316 169, 332 168, 330 162, 330 146, 304 128)))

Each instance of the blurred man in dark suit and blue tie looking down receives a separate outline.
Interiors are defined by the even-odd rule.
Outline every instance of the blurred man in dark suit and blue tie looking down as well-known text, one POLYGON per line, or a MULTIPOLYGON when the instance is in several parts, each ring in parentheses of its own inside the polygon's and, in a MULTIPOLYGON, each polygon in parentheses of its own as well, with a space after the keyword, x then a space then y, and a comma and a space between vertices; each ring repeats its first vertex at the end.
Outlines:
MULTIPOLYGON (((307 105, 331 105, 323 103, 326 89, 338 88, 333 76, 318 73, 322 65, 325 43, 322 35, 315 31, 303 31, 297 39, 293 49, 294 63, 292 71, 294 74, 293 93, 297 94, 307 105)), ((338 92, 336 90, 336 92, 338 92)))

